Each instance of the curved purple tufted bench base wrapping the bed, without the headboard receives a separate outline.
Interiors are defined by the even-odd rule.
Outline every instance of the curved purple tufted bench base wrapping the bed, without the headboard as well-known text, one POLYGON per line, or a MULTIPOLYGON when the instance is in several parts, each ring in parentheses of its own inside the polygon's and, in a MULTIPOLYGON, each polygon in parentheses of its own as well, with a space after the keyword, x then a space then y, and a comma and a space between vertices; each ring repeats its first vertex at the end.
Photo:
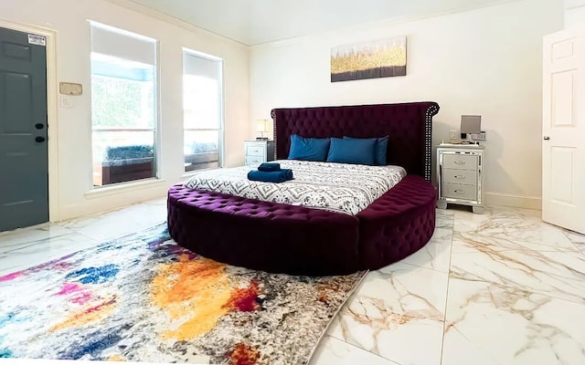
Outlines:
POLYGON ((289 274, 348 274, 419 250, 434 231, 435 204, 434 188, 416 175, 356 216, 176 184, 168 192, 168 224, 176 242, 221 262, 289 274))

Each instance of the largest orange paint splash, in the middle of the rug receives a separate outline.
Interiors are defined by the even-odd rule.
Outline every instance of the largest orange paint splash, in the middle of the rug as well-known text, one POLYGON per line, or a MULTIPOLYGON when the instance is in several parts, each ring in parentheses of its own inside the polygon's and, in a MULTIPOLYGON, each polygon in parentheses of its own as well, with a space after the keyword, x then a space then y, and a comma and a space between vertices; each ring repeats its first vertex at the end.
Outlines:
POLYGON ((180 255, 179 261, 161 265, 152 282, 153 300, 165 308, 172 320, 180 320, 176 329, 165 331, 165 339, 195 339, 212 328, 226 315, 231 297, 225 264, 206 258, 190 260, 180 255))

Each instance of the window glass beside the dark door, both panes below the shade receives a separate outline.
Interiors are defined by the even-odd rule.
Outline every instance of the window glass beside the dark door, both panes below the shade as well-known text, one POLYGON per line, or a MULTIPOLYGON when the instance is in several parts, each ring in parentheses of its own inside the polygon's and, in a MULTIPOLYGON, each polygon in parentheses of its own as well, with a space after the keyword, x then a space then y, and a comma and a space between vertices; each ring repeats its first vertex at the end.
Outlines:
POLYGON ((154 65, 91 53, 93 184, 156 176, 154 65))

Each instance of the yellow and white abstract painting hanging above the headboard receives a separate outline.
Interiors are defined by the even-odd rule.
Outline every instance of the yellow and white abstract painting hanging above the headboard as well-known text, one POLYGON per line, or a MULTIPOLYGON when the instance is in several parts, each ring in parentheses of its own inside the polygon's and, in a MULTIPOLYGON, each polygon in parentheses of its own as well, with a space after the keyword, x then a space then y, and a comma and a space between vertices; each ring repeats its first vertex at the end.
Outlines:
POLYGON ((331 82, 406 75, 406 36, 331 49, 331 82))

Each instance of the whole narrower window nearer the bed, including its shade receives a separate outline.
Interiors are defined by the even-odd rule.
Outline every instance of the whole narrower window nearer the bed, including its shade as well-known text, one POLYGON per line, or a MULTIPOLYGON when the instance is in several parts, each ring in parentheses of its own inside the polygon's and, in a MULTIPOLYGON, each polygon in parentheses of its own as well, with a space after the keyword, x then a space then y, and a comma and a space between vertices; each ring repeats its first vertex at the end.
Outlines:
POLYGON ((185 171, 222 165, 222 61, 183 52, 183 123, 185 171))

